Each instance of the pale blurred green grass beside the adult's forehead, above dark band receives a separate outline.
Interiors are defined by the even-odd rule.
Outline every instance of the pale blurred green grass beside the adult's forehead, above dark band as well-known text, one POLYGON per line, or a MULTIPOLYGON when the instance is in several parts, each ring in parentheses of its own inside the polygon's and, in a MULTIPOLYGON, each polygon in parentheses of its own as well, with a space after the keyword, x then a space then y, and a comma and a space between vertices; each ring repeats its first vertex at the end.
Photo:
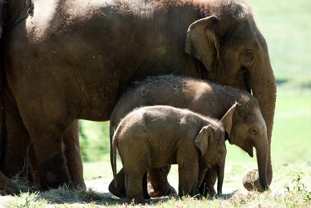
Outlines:
POLYGON ((278 81, 289 87, 311 87, 311 2, 249 0, 259 30, 266 38, 278 81))

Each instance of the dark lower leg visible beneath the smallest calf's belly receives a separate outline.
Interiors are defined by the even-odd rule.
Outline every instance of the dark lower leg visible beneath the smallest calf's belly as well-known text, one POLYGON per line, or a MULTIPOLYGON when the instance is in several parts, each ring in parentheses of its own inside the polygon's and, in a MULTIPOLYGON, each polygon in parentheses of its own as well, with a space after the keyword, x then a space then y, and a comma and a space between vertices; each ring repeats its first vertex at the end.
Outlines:
POLYGON ((164 166, 160 168, 153 168, 148 171, 148 182, 150 182, 152 189, 149 194, 152 197, 176 195, 175 189, 169 184, 167 175, 171 166, 164 166))

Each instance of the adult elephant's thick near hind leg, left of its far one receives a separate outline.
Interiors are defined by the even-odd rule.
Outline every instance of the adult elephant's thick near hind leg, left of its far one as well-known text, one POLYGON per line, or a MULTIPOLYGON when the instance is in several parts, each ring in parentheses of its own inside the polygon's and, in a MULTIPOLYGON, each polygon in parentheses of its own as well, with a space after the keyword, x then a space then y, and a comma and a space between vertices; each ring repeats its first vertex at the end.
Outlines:
POLYGON ((62 119, 60 115, 65 113, 61 111, 57 111, 60 112, 58 115, 48 114, 48 111, 36 110, 34 113, 21 109, 21 116, 34 145, 41 189, 58 188, 64 184, 71 187, 64 155, 63 135, 72 121, 62 119))

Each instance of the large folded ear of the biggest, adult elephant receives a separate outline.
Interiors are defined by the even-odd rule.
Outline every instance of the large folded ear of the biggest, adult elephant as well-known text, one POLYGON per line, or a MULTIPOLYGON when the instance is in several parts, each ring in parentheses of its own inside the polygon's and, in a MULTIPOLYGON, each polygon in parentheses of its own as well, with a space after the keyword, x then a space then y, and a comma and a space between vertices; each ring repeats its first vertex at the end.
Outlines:
POLYGON ((187 32, 185 52, 199 59, 210 71, 214 54, 219 57, 219 42, 213 31, 218 18, 210 16, 193 22, 187 32))

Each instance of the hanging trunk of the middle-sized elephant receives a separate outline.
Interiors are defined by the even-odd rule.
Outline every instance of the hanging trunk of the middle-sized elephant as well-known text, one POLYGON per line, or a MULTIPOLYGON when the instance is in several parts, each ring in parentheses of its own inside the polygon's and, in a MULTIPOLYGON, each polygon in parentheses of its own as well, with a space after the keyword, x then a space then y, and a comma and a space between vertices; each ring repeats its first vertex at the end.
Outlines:
POLYGON ((257 155, 257 164, 259 172, 259 181, 260 185, 264 190, 269 189, 268 180, 267 180, 267 161, 268 161, 268 139, 265 138, 264 141, 258 140, 255 144, 256 155, 257 155), (259 144, 260 143, 260 144, 259 144))

